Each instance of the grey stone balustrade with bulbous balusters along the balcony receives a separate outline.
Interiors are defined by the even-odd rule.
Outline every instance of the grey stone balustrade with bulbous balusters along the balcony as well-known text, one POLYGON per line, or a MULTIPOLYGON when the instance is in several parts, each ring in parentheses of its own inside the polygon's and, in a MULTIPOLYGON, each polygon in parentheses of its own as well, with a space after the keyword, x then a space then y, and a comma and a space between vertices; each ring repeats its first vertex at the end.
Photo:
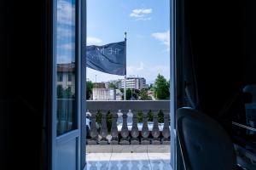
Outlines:
POLYGON ((87 109, 91 116, 88 144, 170 144, 169 100, 87 101, 87 109), (152 122, 148 122, 149 113, 152 122))

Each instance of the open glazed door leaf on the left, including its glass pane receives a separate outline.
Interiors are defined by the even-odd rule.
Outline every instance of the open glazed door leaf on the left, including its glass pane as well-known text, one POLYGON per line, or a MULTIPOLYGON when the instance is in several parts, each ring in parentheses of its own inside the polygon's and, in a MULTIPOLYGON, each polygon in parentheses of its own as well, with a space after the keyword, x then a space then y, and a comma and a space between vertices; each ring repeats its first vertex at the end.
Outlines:
POLYGON ((80 0, 53 0, 52 170, 85 167, 80 7, 80 0))

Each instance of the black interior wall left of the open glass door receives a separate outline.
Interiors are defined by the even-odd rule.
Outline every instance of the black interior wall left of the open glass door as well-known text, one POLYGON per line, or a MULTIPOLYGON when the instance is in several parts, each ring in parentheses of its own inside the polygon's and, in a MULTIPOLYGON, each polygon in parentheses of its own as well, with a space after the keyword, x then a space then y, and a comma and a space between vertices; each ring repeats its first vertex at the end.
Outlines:
POLYGON ((40 169, 46 1, 2 1, 0 13, 0 169, 40 169))

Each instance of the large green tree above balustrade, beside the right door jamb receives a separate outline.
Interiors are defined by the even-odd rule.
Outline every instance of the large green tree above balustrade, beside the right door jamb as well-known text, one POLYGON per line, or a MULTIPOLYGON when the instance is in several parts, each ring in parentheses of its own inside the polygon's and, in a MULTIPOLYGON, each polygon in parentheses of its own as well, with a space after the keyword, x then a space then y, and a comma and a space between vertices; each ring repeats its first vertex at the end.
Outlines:
POLYGON ((156 99, 170 99, 169 82, 160 74, 154 82, 154 97, 156 99))

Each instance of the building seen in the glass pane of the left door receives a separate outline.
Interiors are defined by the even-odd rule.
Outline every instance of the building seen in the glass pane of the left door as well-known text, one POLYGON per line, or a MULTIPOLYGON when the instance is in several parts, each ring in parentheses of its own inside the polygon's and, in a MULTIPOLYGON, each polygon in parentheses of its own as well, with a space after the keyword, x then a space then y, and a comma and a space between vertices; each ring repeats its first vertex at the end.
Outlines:
POLYGON ((75 93, 75 64, 57 64, 57 85, 62 88, 71 88, 71 93, 75 93))

